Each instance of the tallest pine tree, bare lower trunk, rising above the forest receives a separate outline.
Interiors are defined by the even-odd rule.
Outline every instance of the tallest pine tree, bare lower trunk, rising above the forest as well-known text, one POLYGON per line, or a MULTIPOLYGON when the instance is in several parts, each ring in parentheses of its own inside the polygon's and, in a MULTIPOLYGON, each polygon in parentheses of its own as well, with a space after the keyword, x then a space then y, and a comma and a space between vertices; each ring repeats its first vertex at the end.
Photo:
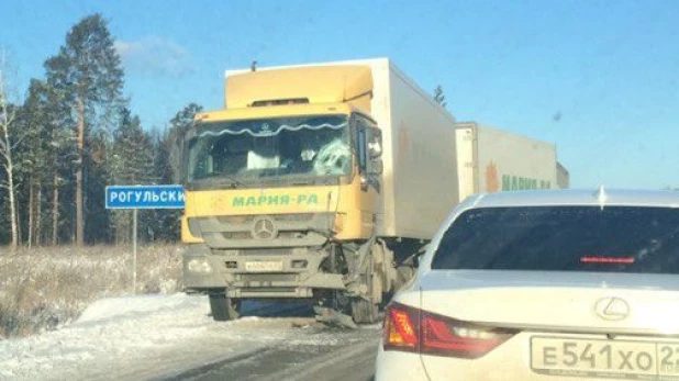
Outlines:
POLYGON ((45 63, 47 82, 75 115, 76 243, 85 240, 84 176, 93 128, 110 123, 122 102, 123 70, 107 21, 99 13, 80 20, 59 53, 45 63))

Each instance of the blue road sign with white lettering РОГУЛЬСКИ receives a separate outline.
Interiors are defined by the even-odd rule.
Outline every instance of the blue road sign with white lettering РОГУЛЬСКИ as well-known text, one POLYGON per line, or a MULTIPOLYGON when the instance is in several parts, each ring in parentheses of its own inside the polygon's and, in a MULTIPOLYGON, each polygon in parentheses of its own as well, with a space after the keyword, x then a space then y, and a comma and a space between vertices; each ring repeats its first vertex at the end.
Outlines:
POLYGON ((182 209, 183 188, 171 186, 107 187, 107 209, 182 209))

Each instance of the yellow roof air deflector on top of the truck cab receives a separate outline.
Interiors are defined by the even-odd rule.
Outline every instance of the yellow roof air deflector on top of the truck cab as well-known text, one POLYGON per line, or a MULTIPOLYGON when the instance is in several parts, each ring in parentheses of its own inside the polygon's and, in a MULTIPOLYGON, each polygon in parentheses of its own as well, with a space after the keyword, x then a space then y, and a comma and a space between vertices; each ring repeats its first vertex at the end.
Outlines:
POLYGON ((372 75, 360 65, 263 68, 230 74, 225 91, 227 109, 348 102, 369 113, 372 75))

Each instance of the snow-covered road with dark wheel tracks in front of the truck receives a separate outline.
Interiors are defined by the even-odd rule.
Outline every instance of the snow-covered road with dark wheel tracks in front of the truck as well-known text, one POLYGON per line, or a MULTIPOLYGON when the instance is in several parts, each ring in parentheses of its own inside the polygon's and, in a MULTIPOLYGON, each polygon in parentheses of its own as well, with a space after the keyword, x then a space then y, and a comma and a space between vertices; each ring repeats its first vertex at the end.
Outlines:
POLYGON ((378 325, 325 327, 308 306, 246 304, 215 323, 205 296, 152 295, 92 304, 63 329, 0 341, 0 380, 369 380, 378 325))

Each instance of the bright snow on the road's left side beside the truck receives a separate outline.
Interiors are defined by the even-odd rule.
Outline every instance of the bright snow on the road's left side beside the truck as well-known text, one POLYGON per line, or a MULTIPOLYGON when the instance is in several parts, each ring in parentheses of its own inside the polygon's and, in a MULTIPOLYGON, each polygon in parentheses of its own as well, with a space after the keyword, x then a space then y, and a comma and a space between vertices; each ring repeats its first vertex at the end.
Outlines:
POLYGON ((207 296, 183 293, 94 302, 63 329, 0 340, 0 380, 163 378, 300 339, 294 318, 216 323, 209 310, 207 296))

